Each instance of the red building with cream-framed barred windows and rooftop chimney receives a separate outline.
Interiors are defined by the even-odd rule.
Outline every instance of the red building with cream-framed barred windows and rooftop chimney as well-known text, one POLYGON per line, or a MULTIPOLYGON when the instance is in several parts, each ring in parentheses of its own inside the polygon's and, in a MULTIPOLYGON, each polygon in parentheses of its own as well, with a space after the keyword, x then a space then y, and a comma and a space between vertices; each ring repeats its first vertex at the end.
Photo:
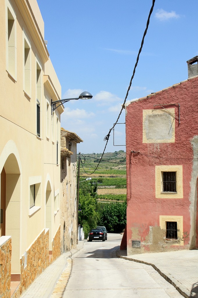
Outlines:
POLYGON ((198 248, 198 56, 126 105, 127 254, 198 248))

